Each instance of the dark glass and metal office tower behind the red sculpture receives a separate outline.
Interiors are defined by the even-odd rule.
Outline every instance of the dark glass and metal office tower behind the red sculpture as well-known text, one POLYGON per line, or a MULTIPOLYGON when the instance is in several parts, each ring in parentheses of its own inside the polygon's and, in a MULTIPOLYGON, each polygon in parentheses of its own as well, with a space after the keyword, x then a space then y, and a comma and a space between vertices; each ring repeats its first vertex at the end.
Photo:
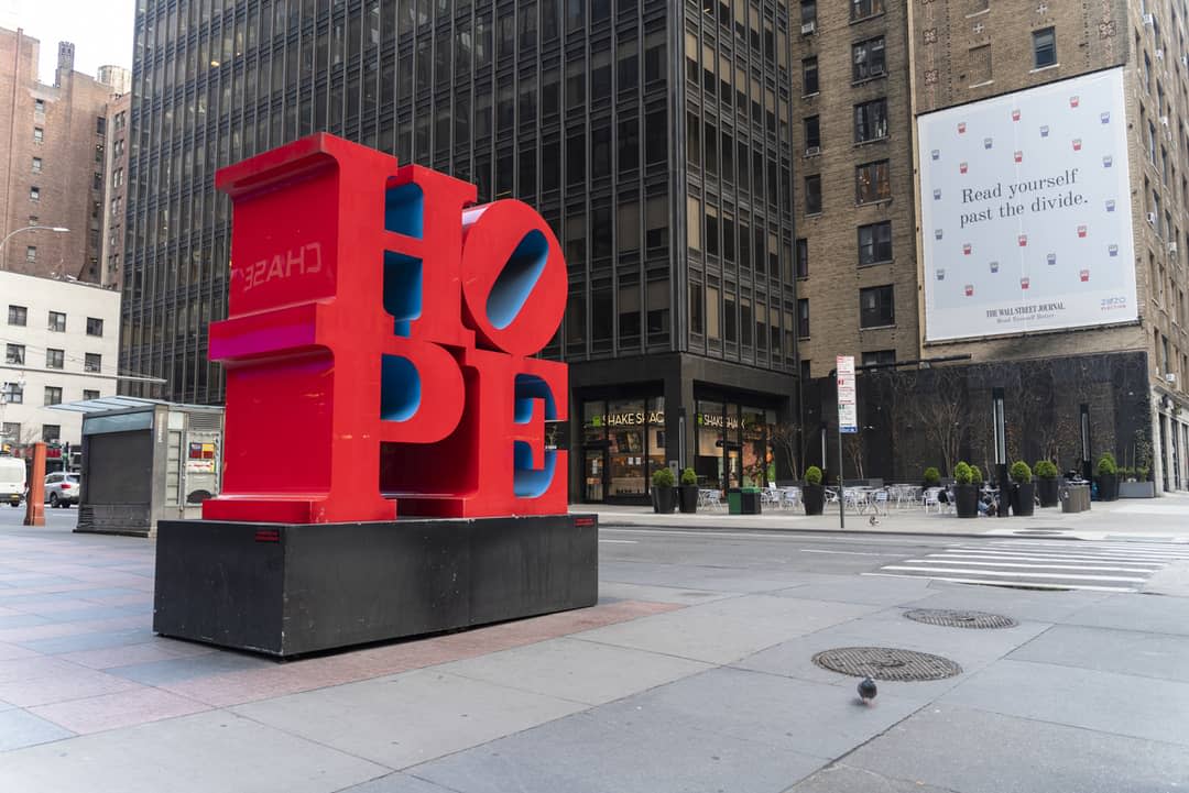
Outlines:
MULTIPOLYGON (((121 366, 169 383, 130 388, 221 401, 206 328, 225 313, 229 203, 214 172, 328 131, 553 227, 570 296, 545 355, 572 364, 575 497, 584 399, 692 414, 712 387, 789 410, 787 18, 770 0, 139 0, 121 366)), ((660 411, 662 437, 677 413, 660 411)), ((685 431, 631 455, 644 480, 675 446, 693 464, 685 431)))

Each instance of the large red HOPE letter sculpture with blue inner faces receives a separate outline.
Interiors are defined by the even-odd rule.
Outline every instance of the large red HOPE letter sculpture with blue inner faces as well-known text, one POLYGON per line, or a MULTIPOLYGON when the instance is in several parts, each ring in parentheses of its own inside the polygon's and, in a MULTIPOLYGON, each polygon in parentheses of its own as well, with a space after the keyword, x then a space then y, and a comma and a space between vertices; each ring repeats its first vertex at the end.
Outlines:
POLYGON ((566 512, 566 264, 518 201, 328 134, 219 171, 234 207, 210 520, 566 512), (385 497, 389 496, 389 497, 385 497), (395 497, 392 497, 395 496, 395 497))

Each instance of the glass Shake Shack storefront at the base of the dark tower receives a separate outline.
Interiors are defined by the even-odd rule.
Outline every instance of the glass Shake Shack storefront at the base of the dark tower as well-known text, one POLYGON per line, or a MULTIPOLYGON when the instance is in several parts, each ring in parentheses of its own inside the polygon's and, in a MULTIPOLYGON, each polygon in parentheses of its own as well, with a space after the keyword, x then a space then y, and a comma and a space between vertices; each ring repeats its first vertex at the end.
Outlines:
MULTIPOLYGON (((716 368, 723 367, 743 369, 716 368)), ((658 368, 663 367, 649 367, 653 376, 658 368)), ((792 383, 786 393, 763 393, 675 378, 583 387, 575 370, 581 369, 573 367, 571 375, 571 501, 648 503, 653 472, 671 463, 693 468, 704 488, 775 481, 773 429, 791 407, 793 378, 763 373, 792 383)))

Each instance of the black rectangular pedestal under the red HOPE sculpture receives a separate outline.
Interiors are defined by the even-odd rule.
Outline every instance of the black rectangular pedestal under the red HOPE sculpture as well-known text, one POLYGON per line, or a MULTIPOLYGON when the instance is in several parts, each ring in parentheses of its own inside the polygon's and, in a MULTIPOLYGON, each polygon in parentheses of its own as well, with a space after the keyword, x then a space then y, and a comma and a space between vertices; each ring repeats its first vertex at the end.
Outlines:
POLYGON ((157 528, 153 630, 281 658, 597 599, 594 515, 157 528))

